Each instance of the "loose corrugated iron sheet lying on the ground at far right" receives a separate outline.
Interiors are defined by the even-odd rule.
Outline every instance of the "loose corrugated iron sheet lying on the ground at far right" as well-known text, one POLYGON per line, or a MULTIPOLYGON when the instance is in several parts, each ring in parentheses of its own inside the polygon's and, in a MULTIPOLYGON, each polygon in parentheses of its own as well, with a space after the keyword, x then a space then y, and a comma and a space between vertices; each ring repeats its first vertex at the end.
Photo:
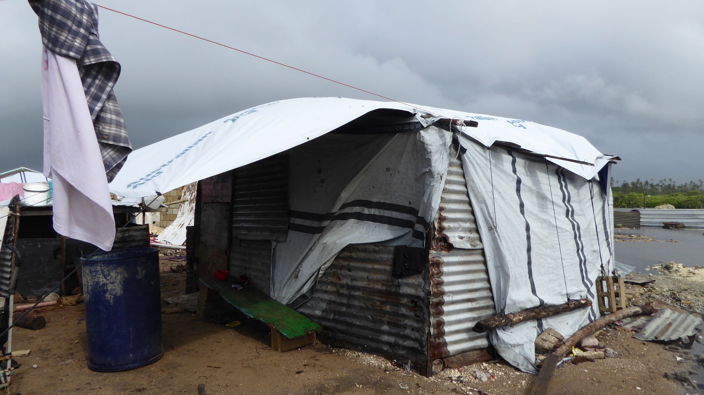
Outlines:
POLYGON ((686 341, 696 333, 696 327, 702 323, 699 316, 690 313, 677 313, 670 309, 660 309, 634 336, 641 340, 670 341, 683 339, 686 341))

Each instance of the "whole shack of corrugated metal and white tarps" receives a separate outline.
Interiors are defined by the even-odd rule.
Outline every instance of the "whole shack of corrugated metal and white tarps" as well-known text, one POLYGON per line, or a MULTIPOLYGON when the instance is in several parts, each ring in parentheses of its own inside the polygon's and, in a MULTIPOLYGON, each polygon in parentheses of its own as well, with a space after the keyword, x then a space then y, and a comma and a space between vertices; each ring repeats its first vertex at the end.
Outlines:
POLYGON ((598 318, 596 303, 489 335, 472 327, 497 312, 596 300, 596 277, 614 265, 615 159, 522 119, 305 98, 134 151, 111 191, 199 181, 192 285, 218 270, 247 276, 320 323, 324 342, 425 375, 433 361, 486 358, 491 345, 536 372, 536 336, 571 335, 598 318))

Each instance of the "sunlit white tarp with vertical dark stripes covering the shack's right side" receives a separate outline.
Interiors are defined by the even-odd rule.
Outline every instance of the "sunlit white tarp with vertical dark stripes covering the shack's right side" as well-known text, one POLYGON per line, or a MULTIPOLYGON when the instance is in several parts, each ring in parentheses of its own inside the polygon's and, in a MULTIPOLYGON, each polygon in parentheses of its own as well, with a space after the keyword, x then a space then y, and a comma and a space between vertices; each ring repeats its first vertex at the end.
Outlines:
POLYGON ((460 138, 496 311, 515 313, 589 298, 591 309, 497 328, 491 343, 512 365, 536 373, 534 342, 545 328, 568 337, 598 318, 596 277, 612 259, 610 189, 555 164, 460 138))

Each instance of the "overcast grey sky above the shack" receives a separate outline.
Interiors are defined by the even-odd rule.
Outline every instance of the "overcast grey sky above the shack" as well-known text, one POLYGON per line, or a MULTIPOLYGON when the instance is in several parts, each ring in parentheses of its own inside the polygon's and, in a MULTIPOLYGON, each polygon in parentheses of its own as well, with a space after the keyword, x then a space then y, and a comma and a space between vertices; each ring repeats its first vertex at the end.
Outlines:
MULTIPOLYGON (((704 178, 704 1, 97 4, 398 101, 529 119, 620 155, 615 179, 704 178), (431 6, 431 4, 434 4, 431 6)), ((134 148, 239 110, 374 96, 100 10, 134 148)), ((0 171, 42 169, 41 38, 0 1, 0 171)))

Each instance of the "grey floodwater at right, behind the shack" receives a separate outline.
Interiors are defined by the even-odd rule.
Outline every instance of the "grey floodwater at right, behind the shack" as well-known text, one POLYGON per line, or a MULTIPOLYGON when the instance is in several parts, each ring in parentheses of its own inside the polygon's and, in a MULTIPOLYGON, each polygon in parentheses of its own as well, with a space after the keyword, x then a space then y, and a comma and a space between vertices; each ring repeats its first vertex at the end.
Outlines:
MULTIPOLYGON (((643 273, 646 267, 675 261, 687 267, 704 266, 704 229, 663 229, 643 226, 640 229, 617 228, 616 234, 643 235, 653 240, 667 241, 622 241, 614 242, 614 255, 622 264, 636 266, 643 273)), ((653 273, 655 274, 655 273, 653 273)))

